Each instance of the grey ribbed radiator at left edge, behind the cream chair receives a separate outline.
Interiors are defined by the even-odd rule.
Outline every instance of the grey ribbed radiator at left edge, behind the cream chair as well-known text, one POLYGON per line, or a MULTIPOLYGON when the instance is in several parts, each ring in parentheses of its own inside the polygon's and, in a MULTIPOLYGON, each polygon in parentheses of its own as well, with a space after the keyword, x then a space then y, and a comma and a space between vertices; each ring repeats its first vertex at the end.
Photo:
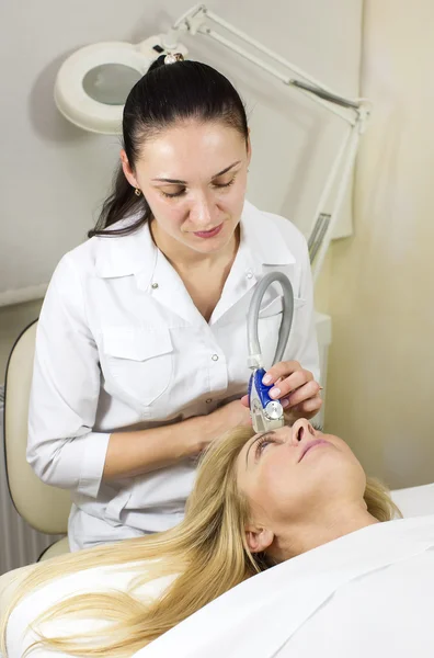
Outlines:
POLYGON ((36 561, 58 538, 33 530, 13 507, 5 475, 3 410, 4 388, 0 386, 0 576, 36 561))

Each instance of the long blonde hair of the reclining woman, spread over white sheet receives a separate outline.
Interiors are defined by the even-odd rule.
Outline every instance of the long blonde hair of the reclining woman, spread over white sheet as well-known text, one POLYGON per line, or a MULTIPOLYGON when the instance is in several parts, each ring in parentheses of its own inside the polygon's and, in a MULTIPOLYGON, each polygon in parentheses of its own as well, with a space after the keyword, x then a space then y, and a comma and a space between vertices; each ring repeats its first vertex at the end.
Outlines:
MULTIPOLYGON (((252 435, 251 429, 238 428, 206 452, 185 519, 176 527, 38 565, 21 583, 5 612, 0 649, 4 656, 5 626, 13 608, 26 593, 68 574, 101 566, 130 568, 130 563, 146 563, 142 576, 135 579, 129 592, 75 595, 43 613, 35 623, 37 626, 59 616, 111 621, 111 626, 101 632, 68 637, 45 637, 35 627, 41 637, 35 645, 71 656, 85 653, 121 657, 133 655, 224 592, 264 570, 264 556, 252 555, 245 543, 249 507, 236 481, 237 457, 252 435), (149 560, 155 561, 149 564, 149 560), (146 602, 134 595, 137 587, 174 575, 178 576, 172 585, 156 601, 146 602)), ((389 521, 398 512, 386 489, 375 480, 367 481, 365 501, 379 521, 389 521)))

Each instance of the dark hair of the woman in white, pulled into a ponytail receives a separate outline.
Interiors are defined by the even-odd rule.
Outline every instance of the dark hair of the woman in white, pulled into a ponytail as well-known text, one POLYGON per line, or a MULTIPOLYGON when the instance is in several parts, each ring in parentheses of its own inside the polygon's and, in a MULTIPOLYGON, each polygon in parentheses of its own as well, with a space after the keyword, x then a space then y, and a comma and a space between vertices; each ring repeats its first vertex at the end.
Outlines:
MULTIPOLYGON (((135 169, 146 138, 170 127, 179 120, 219 121, 237 129, 248 140, 244 105, 229 80, 199 61, 175 61, 164 65, 161 55, 147 73, 133 87, 124 107, 124 148, 135 169)), ((127 235, 151 218, 150 207, 141 194, 137 196, 119 166, 111 195, 104 201, 96 226, 89 237, 127 235), (107 230, 119 219, 138 215, 123 229, 107 230)))

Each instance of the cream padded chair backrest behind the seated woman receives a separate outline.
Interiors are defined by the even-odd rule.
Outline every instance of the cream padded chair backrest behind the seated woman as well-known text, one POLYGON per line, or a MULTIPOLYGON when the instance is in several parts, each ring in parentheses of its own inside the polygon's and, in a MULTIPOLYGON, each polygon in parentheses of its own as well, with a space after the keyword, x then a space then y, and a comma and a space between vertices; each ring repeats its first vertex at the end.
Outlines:
MULTIPOLYGON (((9 491, 18 513, 45 534, 66 534, 71 507, 69 491, 45 485, 26 461, 28 400, 37 320, 18 338, 4 384, 4 451, 9 491)), ((68 538, 49 546, 39 559, 68 553, 68 538)))

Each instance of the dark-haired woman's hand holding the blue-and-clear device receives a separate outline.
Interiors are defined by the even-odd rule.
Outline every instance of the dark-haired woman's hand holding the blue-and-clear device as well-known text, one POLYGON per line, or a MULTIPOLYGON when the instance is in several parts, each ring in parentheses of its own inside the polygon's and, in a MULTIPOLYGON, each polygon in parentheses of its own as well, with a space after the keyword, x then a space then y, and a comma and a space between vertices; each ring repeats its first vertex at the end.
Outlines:
MULTIPOLYGON (((267 386, 274 384, 270 397, 281 401, 289 421, 312 418, 321 409, 321 386, 313 379, 312 373, 301 367, 298 361, 276 363, 266 371, 263 382, 267 386)), ((241 401, 248 406, 248 396, 241 401)))

